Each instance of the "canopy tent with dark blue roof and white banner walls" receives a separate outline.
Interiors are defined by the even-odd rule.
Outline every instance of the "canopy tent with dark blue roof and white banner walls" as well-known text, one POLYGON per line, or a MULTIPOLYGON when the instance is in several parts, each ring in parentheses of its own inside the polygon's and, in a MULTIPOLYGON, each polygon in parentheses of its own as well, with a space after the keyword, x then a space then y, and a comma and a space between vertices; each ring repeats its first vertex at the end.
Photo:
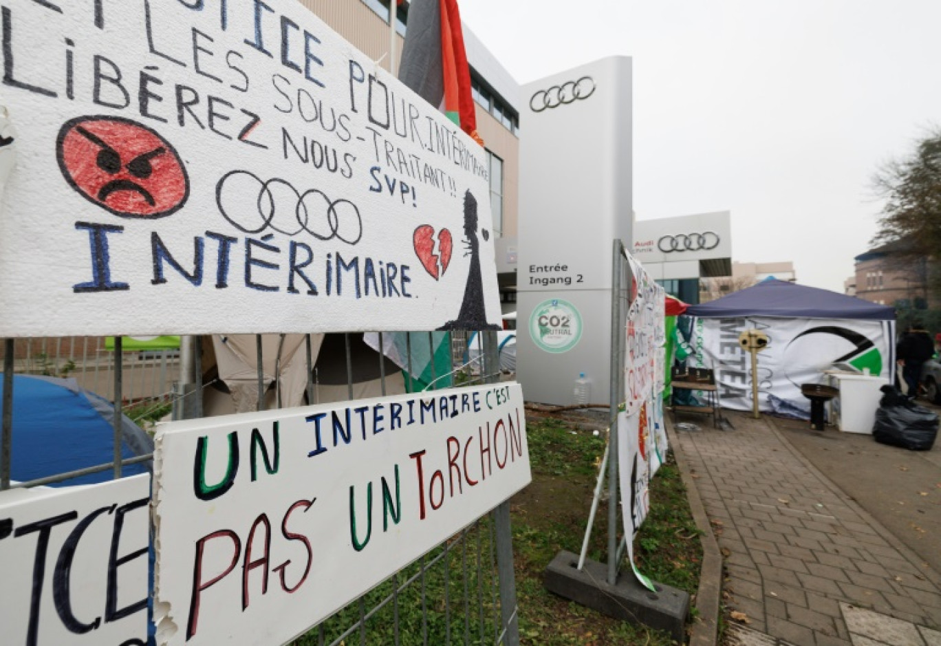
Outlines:
POLYGON ((765 332, 758 353, 760 410, 809 414, 804 383, 824 383, 824 371, 844 370, 893 380, 895 310, 825 289, 768 279, 723 299, 693 305, 682 321, 693 353, 687 364, 715 370, 726 408, 752 408, 751 358, 742 331, 765 332))

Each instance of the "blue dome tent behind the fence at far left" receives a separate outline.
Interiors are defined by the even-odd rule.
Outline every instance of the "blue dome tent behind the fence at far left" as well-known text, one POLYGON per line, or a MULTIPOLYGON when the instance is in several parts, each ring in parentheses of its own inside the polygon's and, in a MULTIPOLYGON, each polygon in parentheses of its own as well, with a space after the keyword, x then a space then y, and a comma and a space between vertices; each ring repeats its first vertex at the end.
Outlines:
MULTIPOLYGON (((126 415, 121 417, 121 457, 152 453, 152 438, 126 415)), ((110 462, 114 459, 113 419, 112 404, 73 379, 14 375, 11 478, 25 482, 110 462)), ((125 465, 121 473, 133 476, 150 469, 148 460, 125 465)), ((60 484, 93 484, 111 478, 108 469, 60 484)))

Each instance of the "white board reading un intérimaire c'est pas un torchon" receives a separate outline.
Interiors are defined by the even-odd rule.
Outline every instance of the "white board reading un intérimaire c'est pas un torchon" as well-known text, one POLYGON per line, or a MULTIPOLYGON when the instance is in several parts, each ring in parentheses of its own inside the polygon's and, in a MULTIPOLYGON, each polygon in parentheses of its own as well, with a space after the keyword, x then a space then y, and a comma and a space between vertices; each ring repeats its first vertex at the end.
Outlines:
POLYGON ((170 423, 160 644, 284 643, 531 479, 517 383, 170 423))

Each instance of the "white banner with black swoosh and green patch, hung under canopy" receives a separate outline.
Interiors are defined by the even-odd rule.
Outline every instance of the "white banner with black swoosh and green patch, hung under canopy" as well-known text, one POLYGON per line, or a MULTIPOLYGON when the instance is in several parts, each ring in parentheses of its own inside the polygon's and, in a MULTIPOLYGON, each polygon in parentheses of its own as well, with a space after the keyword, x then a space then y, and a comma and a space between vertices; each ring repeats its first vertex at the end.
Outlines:
POLYGON ((769 344, 758 352, 758 405, 764 412, 808 417, 801 384, 826 383, 824 371, 844 370, 891 380, 894 321, 820 318, 695 318, 686 360, 711 368, 723 408, 752 410, 751 355, 739 334, 759 330, 769 344))

